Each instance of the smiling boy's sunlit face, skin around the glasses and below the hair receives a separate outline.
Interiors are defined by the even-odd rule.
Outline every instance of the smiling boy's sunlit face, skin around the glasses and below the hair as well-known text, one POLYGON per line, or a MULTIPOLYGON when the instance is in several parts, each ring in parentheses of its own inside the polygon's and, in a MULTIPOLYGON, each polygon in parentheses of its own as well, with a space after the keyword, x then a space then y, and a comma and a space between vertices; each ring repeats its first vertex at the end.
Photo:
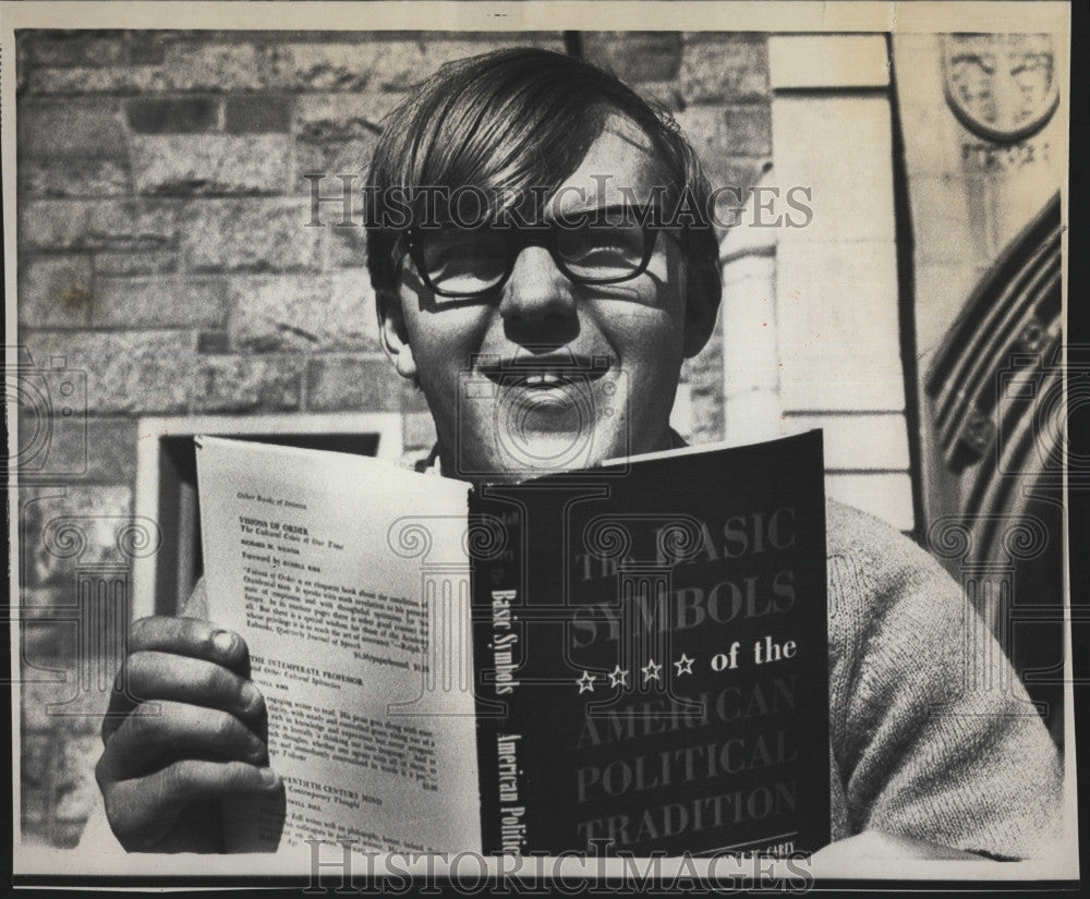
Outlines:
MULTIPOLYGON (((640 129, 610 116, 544 218, 623 205, 623 187, 629 202, 647 197, 659 180, 651 154, 640 129)), ((711 328, 687 321, 686 282, 668 233, 645 271, 607 286, 574 283, 546 246, 523 246, 498 294, 473 302, 435 296, 405 259, 384 338, 398 370, 420 378, 446 473, 513 479, 586 467, 669 445, 681 362, 711 328)))

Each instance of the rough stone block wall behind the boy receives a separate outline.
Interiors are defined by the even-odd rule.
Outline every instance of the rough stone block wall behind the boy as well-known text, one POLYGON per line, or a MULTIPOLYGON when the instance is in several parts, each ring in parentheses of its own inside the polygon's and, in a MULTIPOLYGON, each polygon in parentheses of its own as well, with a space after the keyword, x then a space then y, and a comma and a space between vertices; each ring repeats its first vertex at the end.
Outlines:
MULTIPOLYGON (((140 416, 399 412, 405 454, 431 445, 376 342, 362 231, 304 227, 303 175, 361 171, 404 89, 506 44, 613 68, 674 111, 718 183, 752 184, 771 158, 763 35, 21 33, 19 343, 55 400, 72 385, 76 424, 85 390, 87 435, 84 454, 61 439, 74 420, 52 420, 19 509, 24 839, 74 845, 96 792, 117 653, 77 627, 76 583, 129 566, 140 416)), ((679 427, 720 438, 718 330, 683 380, 679 427)))

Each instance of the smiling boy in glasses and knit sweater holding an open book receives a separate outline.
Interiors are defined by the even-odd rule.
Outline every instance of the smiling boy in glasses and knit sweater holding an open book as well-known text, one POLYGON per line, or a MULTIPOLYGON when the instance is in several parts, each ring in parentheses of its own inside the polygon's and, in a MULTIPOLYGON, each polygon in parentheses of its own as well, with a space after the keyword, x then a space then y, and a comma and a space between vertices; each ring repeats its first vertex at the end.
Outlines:
MULTIPOLYGON (((681 364, 711 336, 720 287, 710 187, 668 118, 586 63, 498 51, 445 66, 391 116, 368 189, 383 342, 435 420, 427 466, 510 481, 574 441, 581 464, 679 445, 681 364), (468 376, 492 380, 491 398, 459 405, 468 376), (573 413, 577 389, 590 415, 573 413), (606 397, 617 414, 600 412, 606 397)), ((1061 773, 1017 679, 968 691, 966 600, 922 550, 837 503, 827 532, 839 842, 825 851, 1032 854, 1061 773)), ((202 586, 185 613, 130 637, 129 694, 164 714, 128 715, 118 693, 102 726, 96 775, 129 850, 218 851, 216 802, 280 789, 242 637, 204 620, 202 586)))

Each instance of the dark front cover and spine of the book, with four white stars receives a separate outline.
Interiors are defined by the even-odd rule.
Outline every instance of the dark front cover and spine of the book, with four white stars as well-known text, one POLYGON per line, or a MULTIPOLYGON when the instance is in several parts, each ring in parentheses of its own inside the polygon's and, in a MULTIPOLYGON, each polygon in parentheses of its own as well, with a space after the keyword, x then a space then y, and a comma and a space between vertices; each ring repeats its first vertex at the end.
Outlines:
POLYGON ((485 852, 828 842, 823 478, 811 432, 471 493, 485 852))

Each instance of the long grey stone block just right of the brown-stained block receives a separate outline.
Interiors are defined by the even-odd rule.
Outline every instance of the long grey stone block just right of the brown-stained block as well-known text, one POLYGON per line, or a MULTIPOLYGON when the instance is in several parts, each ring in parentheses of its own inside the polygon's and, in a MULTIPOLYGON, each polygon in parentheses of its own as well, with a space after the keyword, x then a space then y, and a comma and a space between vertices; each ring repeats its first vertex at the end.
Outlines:
POLYGON ((96 326, 215 327, 225 317, 226 284, 217 278, 102 278, 96 288, 96 326))

